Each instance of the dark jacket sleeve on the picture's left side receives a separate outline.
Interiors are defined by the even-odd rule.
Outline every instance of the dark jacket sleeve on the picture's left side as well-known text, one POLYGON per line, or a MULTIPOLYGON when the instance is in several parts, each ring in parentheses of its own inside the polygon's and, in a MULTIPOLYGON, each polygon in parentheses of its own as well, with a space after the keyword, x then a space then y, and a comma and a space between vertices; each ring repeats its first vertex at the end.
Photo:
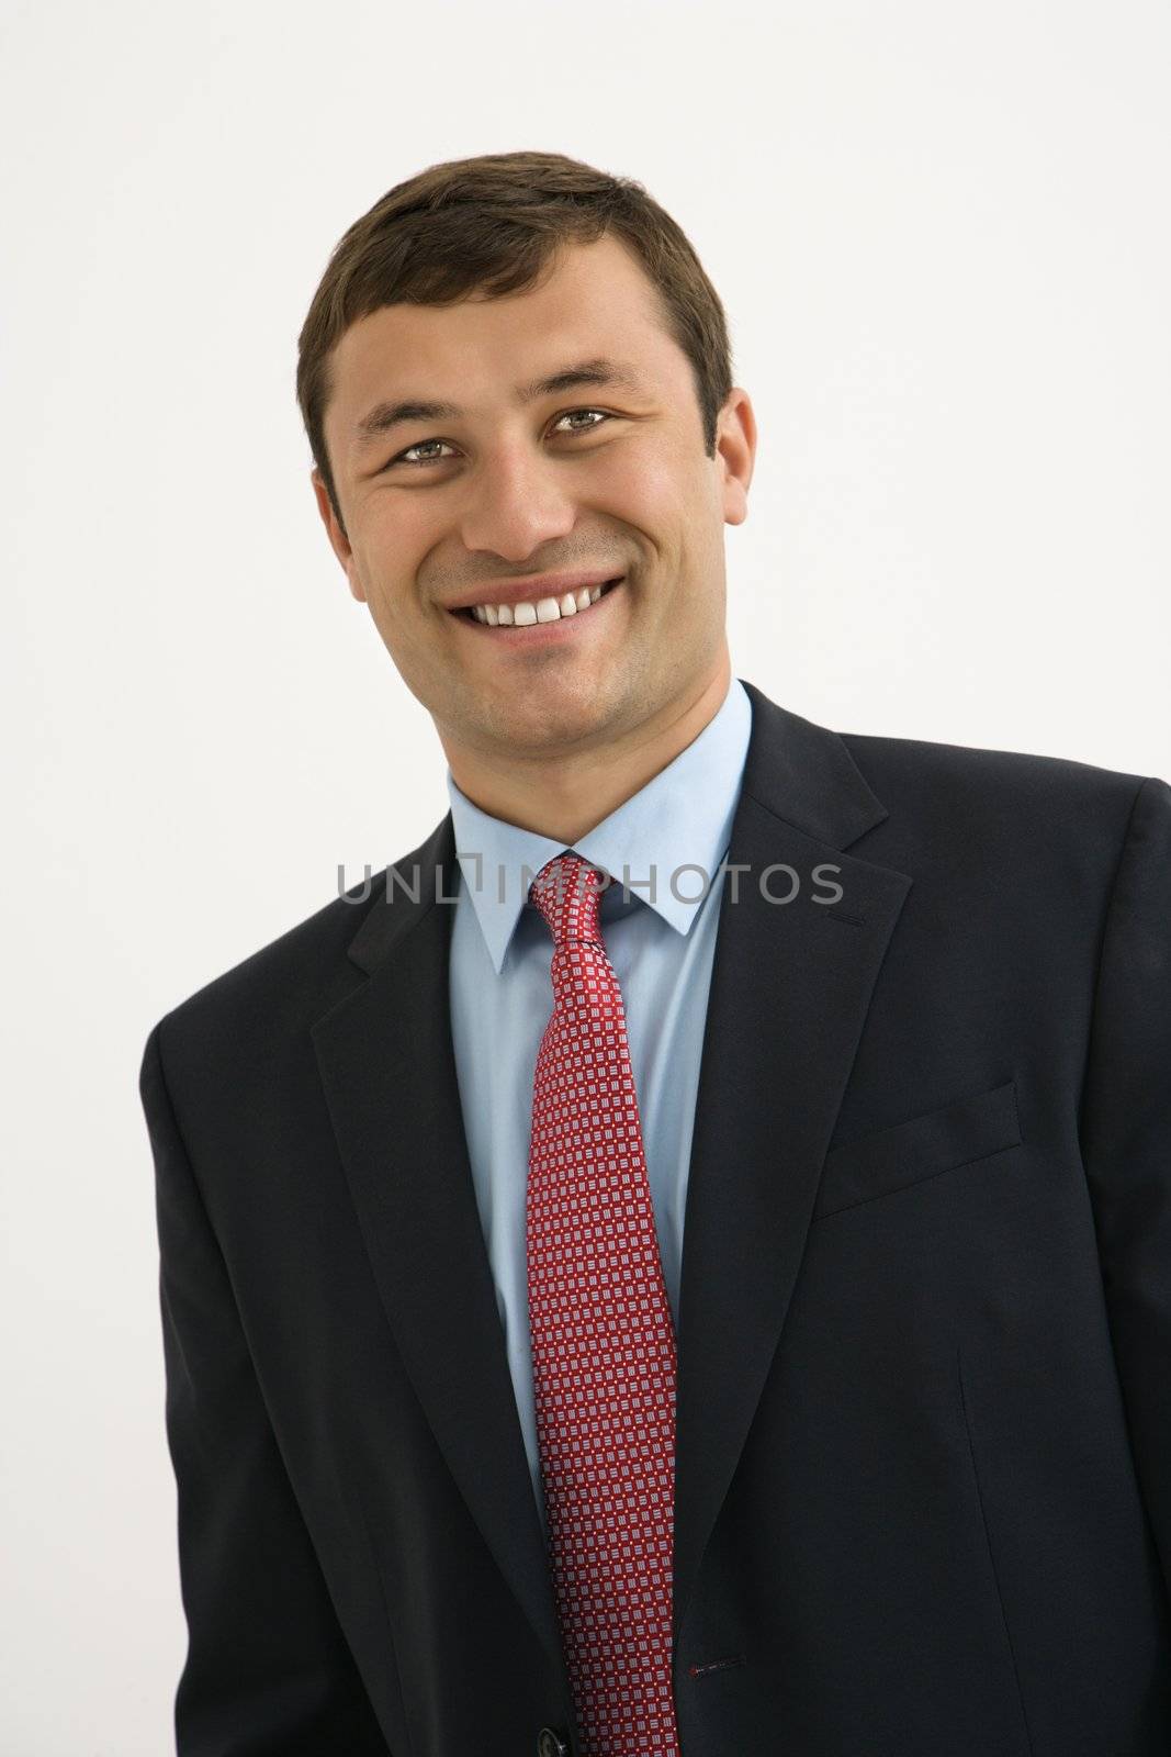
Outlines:
POLYGON ((160 1246, 167 1442, 188 1655, 177 1757, 388 1757, 263 1406, 167 1091, 140 1070, 160 1246))

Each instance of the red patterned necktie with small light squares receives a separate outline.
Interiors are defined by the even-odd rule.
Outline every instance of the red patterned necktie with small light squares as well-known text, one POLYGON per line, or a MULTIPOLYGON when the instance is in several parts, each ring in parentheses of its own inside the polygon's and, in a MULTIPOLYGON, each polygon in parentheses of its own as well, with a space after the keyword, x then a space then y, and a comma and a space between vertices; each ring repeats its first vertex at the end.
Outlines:
POLYGON ((558 854, 528 887, 553 933, 527 1205, 537 1439, 581 1757, 678 1757, 674 1325, 621 989, 599 928, 607 884, 579 854, 558 854))

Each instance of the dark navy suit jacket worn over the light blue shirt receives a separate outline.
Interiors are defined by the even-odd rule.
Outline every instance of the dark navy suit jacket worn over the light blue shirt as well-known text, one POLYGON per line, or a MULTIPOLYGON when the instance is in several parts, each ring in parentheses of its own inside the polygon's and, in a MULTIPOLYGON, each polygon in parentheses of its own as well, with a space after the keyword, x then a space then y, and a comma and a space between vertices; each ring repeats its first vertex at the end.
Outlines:
MULTIPOLYGON (((683 1757, 1166 1757, 1171 789, 748 689, 679 1293, 683 1757)), ((335 898, 146 1044, 181 1757, 581 1752, 460 1116, 449 815, 395 866, 418 900, 335 898)))

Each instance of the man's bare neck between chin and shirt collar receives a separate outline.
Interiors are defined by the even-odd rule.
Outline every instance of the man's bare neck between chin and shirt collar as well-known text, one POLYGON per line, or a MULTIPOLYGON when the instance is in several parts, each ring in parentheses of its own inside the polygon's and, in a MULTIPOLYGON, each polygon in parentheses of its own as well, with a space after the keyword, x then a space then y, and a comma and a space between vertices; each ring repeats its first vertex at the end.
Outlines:
POLYGON ((723 705, 730 678, 725 645, 716 669, 692 694, 600 748, 500 763, 441 738, 451 778, 490 817, 572 845, 699 738, 723 705))

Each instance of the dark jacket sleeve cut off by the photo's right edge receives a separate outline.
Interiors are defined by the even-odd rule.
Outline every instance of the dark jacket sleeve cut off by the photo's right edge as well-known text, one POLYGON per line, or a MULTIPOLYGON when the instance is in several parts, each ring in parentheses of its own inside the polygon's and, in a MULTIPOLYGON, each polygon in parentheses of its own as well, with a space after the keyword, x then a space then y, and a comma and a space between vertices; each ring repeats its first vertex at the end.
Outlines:
POLYGON ((1131 1448, 1171 1590, 1171 787, 1153 777, 1106 915, 1080 1123, 1131 1448))

